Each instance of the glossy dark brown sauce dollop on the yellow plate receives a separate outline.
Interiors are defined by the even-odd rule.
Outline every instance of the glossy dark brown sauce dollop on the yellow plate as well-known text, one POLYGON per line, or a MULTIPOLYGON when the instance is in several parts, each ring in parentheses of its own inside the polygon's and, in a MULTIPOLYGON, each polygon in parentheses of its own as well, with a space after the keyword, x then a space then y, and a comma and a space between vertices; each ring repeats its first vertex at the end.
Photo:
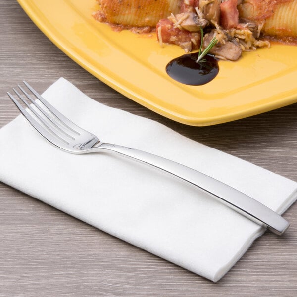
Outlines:
POLYGON ((202 60, 196 62, 198 52, 184 54, 170 61, 166 66, 167 74, 176 81, 192 86, 207 84, 219 73, 218 60, 207 54, 202 60))

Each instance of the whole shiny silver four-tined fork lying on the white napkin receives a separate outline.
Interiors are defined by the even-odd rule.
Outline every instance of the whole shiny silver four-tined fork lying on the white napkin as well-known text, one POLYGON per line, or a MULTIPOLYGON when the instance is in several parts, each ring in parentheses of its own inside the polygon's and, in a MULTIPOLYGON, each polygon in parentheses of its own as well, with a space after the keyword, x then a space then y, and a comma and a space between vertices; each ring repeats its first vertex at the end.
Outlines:
POLYGON ((97 136, 77 126, 56 110, 26 81, 23 83, 31 94, 20 85, 18 89, 13 88, 19 99, 10 92, 7 94, 31 125, 55 147, 74 154, 110 152, 128 157, 193 185, 199 191, 207 193, 210 198, 216 198, 277 235, 283 234, 288 229, 289 222, 272 209, 202 172, 142 150, 100 141, 97 136), (19 100, 28 108, 25 109, 19 100))

